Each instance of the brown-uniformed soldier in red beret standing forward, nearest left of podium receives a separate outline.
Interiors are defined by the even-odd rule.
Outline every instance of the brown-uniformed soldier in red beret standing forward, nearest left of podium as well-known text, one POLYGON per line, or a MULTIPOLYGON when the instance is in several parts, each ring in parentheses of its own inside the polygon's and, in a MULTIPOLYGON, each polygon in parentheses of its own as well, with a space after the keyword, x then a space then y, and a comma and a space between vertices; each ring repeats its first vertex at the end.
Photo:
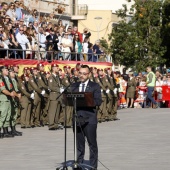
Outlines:
POLYGON ((60 114, 60 80, 58 76, 59 67, 57 64, 53 63, 51 65, 51 75, 48 78, 48 87, 50 90, 49 94, 49 109, 48 109, 48 115, 49 115, 49 130, 57 130, 61 129, 61 126, 59 125, 59 114, 60 114))

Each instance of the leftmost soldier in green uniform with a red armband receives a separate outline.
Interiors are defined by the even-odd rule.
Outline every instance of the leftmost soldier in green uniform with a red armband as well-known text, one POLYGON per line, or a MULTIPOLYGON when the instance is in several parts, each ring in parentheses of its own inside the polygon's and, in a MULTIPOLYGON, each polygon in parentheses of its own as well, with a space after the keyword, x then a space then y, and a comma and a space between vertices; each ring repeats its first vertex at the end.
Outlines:
POLYGON ((8 132, 11 117, 11 100, 15 97, 14 92, 11 90, 11 84, 8 78, 8 67, 2 66, 0 68, 2 76, 0 78, 0 131, 3 128, 3 134, 0 137, 8 138, 14 137, 13 134, 8 132))

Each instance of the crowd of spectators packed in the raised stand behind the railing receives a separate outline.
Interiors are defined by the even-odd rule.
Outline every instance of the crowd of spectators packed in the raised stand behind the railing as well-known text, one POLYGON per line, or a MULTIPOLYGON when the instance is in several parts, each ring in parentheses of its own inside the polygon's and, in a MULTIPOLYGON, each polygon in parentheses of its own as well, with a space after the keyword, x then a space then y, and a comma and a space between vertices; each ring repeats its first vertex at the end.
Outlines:
POLYGON ((20 1, 1 3, 0 58, 105 61, 100 41, 93 45, 87 28, 80 33, 77 26, 63 25, 62 20, 54 24, 39 16, 20 1))

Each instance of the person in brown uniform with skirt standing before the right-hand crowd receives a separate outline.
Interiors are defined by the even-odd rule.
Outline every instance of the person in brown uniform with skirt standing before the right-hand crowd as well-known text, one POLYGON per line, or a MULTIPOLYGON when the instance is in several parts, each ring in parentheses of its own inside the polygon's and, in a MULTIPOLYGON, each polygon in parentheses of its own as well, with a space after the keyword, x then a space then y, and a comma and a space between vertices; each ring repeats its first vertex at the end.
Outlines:
POLYGON ((133 107, 133 102, 135 98, 135 91, 136 91, 136 81, 133 76, 133 72, 129 72, 129 80, 127 82, 127 107, 129 106, 130 108, 133 107), (130 103, 129 103, 130 99, 130 103))

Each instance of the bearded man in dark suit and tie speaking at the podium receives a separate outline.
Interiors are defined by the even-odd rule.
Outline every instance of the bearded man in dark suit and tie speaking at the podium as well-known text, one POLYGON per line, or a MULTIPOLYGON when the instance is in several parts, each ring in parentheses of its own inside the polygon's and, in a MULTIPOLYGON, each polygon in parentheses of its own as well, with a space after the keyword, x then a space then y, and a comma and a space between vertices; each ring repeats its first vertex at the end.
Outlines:
MULTIPOLYGON (((102 103, 100 86, 89 80, 90 68, 82 65, 79 70, 80 82, 72 85, 73 92, 92 92, 95 107, 77 107, 77 161, 82 163, 85 155, 85 137, 90 147, 90 166, 97 169, 97 110, 102 103)), ((81 169, 81 168, 80 168, 81 169)))

